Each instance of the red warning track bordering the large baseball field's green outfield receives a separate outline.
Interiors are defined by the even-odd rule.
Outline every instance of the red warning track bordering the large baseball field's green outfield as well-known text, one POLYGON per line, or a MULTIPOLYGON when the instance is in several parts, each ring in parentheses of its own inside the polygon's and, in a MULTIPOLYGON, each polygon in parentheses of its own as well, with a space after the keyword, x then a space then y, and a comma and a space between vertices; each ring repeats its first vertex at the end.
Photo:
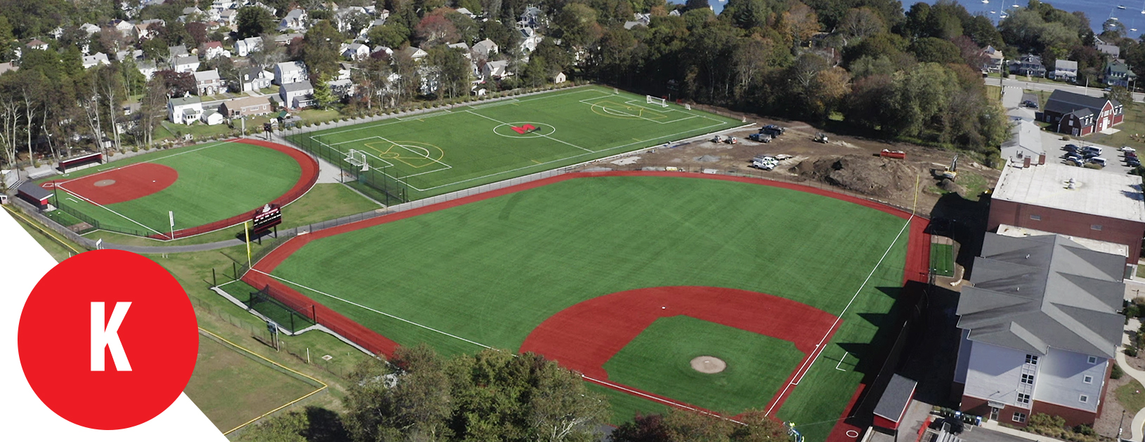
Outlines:
MULTIPOLYGON (((314 240, 317 240, 317 239, 327 238, 327 236, 332 236, 332 235, 337 235, 337 234, 341 234, 341 233, 346 233, 346 232, 352 232, 352 231, 356 231, 356 230, 360 230, 360 228, 372 227, 372 226, 377 226, 377 225, 381 225, 381 224, 386 224, 386 223, 393 223, 393 222, 396 222, 396 220, 401 220, 401 219, 414 217, 414 216, 418 216, 418 215, 428 214, 428 212, 433 212, 433 211, 437 211, 437 210, 444 210, 444 209, 449 209, 449 208, 452 208, 452 207, 458 207, 458 206, 461 206, 461 204, 467 204, 467 203, 471 203, 471 202, 483 201, 483 200, 488 200, 488 199, 492 199, 492 198, 497 198, 497 196, 502 196, 502 195, 506 195, 506 194, 511 194, 511 193, 515 193, 515 192, 521 192, 521 191, 526 191, 526 190, 530 190, 530 188, 536 188, 536 187, 540 187, 540 186, 553 184, 553 183, 563 182, 563 180, 567 180, 567 179, 592 178, 592 177, 609 177, 609 176, 682 177, 682 178, 694 178, 694 179, 718 179, 718 180, 727 180, 727 182, 737 182, 737 183, 749 183, 749 184, 757 184, 757 185, 767 185, 767 186, 789 188, 789 190, 795 190, 795 191, 799 191, 799 192, 807 192, 807 193, 812 193, 812 194, 816 194, 816 195, 834 198, 834 199, 837 199, 837 200, 847 201, 847 202, 855 203, 855 204, 859 204, 859 206, 863 206, 863 207, 868 207, 868 208, 871 208, 871 209, 881 210, 883 212, 894 215, 894 216, 900 217, 902 219, 909 219, 910 220, 910 227, 909 227, 909 238, 908 238, 908 244, 907 244, 907 262, 906 262, 906 267, 903 270, 903 283, 906 283, 907 281, 921 281, 921 282, 926 282, 927 281, 926 276, 929 274, 929 266, 930 266, 929 265, 929 263, 930 263, 930 235, 925 233, 925 228, 926 228, 926 226, 927 226, 927 224, 930 222, 927 219, 925 219, 925 218, 915 217, 915 216, 913 216, 913 214, 910 214, 908 211, 905 211, 902 209, 894 208, 894 207, 891 207, 891 206, 882 204, 882 203, 878 203, 878 202, 875 202, 875 201, 868 201, 868 200, 864 200, 864 199, 861 199, 861 198, 845 195, 845 194, 842 194, 842 193, 836 193, 836 192, 831 192, 831 191, 823 190, 823 188, 810 187, 810 186, 805 186, 805 185, 800 185, 800 184, 784 183, 784 182, 774 182, 774 180, 759 179, 759 178, 750 178, 750 177, 739 177, 739 176, 708 175, 708 174, 686 174, 686 172, 669 172, 669 171, 599 171, 599 172, 578 172, 578 174, 558 175, 558 176, 554 176, 554 177, 538 179, 538 180, 534 180, 534 182, 529 182, 529 183, 523 183, 523 184, 519 184, 519 185, 514 185, 514 186, 508 186, 508 187, 499 188, 499 190, 496 190, 496 191, 490 191, 490 192, 485 192, 485 193, 480 193, 480 194, 475 194, 475 195, 459 198, 459 199, 451 200, 451 201, 440 202, 440 203, 436 203, 436 204, 431 204, 431 206, 425 206, 425 207, 420 207, 420 208, 416 208, 416 209, 410 209, 410 210, 396 212, 396 214, 393 214, 393 215, 387 215, 387 216, 382 216, 382 217, 378 217, 378 218, 364 219, 364 220, 361 220, 361 222, 357 222, 357 223, 350 223, 350 224, 341 225, 341 226, 338 226, 338 227, 333 227, 333 228, 327 228, 327 230, 314 232, 314 233, 310 233, 310 234, 307 234, 307 235, 302 235, 302 236, 295 236, 293 239, 291 239, 290 241, 286 241, 284 244, 279 246, 277 249, 275 249, 274 251, 271 251, 270 254, 268 254, 261 260, 259 260, 259 263, 256 263, 254 265, 254 270, 256 272, 247 272, 245 275, 243 275, 242 279, 243 279, 243 281, 245 281, 245 282, 247 282, 247 283, 250 283, 251 286, 254 286, 254 287, 269 286, 273 289, 273 295, 276 298, 279 298, 279 300, 283 300, 283 302, 285 302, 285 303, 287 303, 290 305, 309 306, 309 308, 316 310, 319 313, 319 318, 316 320, 316 322, 319 322, 323 326, 326 326, 327 328, 334 330, 335 332, 340 332, 341 330, 345 330, 347 332, 347 335, 353 335, 353 336, 369 336, 369 339, 364 339, 363 341, 360 341, 358 344, 362 345, 362 346, 364 346, 365 348, 374 352, 374 353, 382 353, 382 354, 389 355, 389 354, 393 354, 393 351, 395 348, 397 348, 397 344, 394 343, 393 340, 390 340, 388 338, 385 338, 384 336, 381 336, 377 331, 371 330, 369 328, 365 328, 364 326, 358 324, 357 322, 355 322, 355 321, 353 321, 353 320, 344 316, 342 314, 340 314, 338 312, 334 312, 334 311, 332 311, 330 308, 326 308, 326 307, 322 306, 321 303, 314 302, 313 299, 310 299, 306 295, 300 294, 299 291, 292 289, 291 287, 286 286, 285 283, 279 282, 278 280, 276 280, 274 278, 268 276, 267 274, 274 272, 274 270, 279 264, 282 264, 284 260, 286 260, 286 258, 289 258, 292 254, 294 254, 295 251, 298 251, 299 249, 301 249, 303 246, 308 244, 310 241, 314 241, 314 240)), ((753 296, 767 296, 767 295, 756 294, 756 292, 751 292, 751 294, 753 296)), ((618 295, 618 294, 614 294, 614 295, 618 295)), ((607 296, 611 296, 611 295, 606 295, 606 297, 607 296)), ((664 304, 661 304, 661 305, 664 305, 664 304)), ((718 308, 718 306, 709 306, 708 308, 718 308)), ((806 308, 811 308, 811 307, 806 306, 806 308)), ((562 313, 563 312, 558 313, 553 318, 560 316, 562 313)), ((306 312, 305 314, 307 314, 308 316, 310 316, 309 312, 306 312)), ((314 319, 314 318, 311 318, 311 319, 314 319)), ((625 318, 624 321, 630 321, 630 319, 625 318)), ((832 321, 834 321, 834 316, 832 316, 832 321)), ((829 326, 824 326, 824 327, 818 328, 818 330, 820 330, 820 332, 826 331, 828 333, 834 333, 835 332, 834 329, 831 329, 831 330, 824 330, 824 329, 827 329, 827 327, 829 327, 829 326)), ((641 328, 641 330, 642 330, 642 328, 641 328)), ((593 332, 602 332, 602 331, 601 330, 593 330, 593 332)), ((531 337, 531 335, 530 335, 530 337, 531 337)), ((823 337, 823 335, 820 335, 816 338, 822 338, 822 337, 823 337)), ((828 339, 829 338, 830 338, 830 336, 828 336, 828 339)), ((629 340, 631 340, 631 339, 629 339, 629 340)), ((613 346, 619 345, 621 347, 623 347, 623 344, 626 344, 629 340, 624 340, 623 343, 611 343, 610 345, 613 345, 613 346)), ((522 348, 524 348, 524 346, 522 346, 522 348)), ((798 348, 798 344, 797 344, 797 348, 798 348)), ((805 351, 805 353, 806 353, 806 351, 805 351)), ((813 351, 812 355, 815 352, 813 351)), ((805 357, 805 361, 807 359, 805 357)), ((803 367, 803 365, 804 364, 800 364, 800 367, 803 367)), ((797 370, 797 371, 806 371, 807 369, 810 369, 810 367, 806 367, 806 368, 804 368, 802 370, 797 370)), ((796 372, 796 373, 792 373, 791 377, 789 377, 789 379, 788 379, 789 384, 791 381, 793 381, 793 379, 797 379, 795 377, 796 375, 799 375, 799 373, 796 372)), ((855 405, 855 402, 858 401, 858 397, 860 396, 860 394, 862 393, 862 391, 864 388, 867 388, 866 385, 860 385, 859 388, 856 388, 856 391, 852 394, 851 402, 847 404, 847 407, 844 410, 843 415, 840 416, 839 420, 836 423, 835 427, 832 428, 831 434, 828 437, 828 442, 851 442, 851 441, 858 440, 859 435, 862 434, 862 428, 859 428, 859 427, 855 427, 853 425, 850 425, 850 424, 845 423, 844 420, 851 413, 852 409, 855 405)), ((788 392, 788 393, 790 393, 790 392, 788 392)), ((775 401, 782 401, 783 399, 785 399, 785 397, 773 397, 772 401, 773 402, 775 402, 775 401)), ((676 401, 672 401, 672 402, 676 402, 676 401)))

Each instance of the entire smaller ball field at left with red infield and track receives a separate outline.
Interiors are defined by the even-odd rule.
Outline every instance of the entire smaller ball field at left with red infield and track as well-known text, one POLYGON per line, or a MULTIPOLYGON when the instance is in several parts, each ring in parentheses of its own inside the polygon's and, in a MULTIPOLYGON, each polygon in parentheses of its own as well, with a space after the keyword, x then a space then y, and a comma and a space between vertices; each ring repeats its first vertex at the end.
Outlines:
POLYGON ((54 206, 64 208, 49 212, 61 224, 88 222, 169 239, 242 223, 269 202, 289 203, 316 177, 317 163, 305 153, 243 139, 155 152, 40 185, 54 191, 54 206))

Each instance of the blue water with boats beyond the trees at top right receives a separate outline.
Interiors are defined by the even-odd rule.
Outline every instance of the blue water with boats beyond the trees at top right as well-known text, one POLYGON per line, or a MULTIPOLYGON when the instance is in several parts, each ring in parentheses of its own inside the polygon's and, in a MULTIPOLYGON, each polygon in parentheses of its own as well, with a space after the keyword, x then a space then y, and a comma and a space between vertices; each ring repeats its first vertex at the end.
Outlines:
MULTIPOLYGON (((724 5, 727 0, 708 0, 708 3, 712 6, 716 14, 724 10, 724 5)), ((682 0, 670 0, 670 3, 684 3, 682 0)), ((910 6, 917 1, 907 0, 902 2, 902 10, 907 11, 910 6)), ((926 3, 933 5, 935 0, 924 0, 926 3)), ((980 0, 960 0, 960 3, 970 11, 970 14, 981 14, 994 22, 998 23, 1000 17, 1006 11, 1024 8, 1027 5, 1027 0, 989 0, 989 3, 982 3, 980 0)), ((1080 10, 1085 13, 1089 17, 1089 23, 1093 27, 1095 33, 1101 32, 1101 23, 1111 17, 1116 17, 1121 23, 1126 24, 1126 30, 1130 37, 1139 38, 1145 33, 1145 0, 1135 1, 1118 1, 1118 0, 1056 0, 1056 1, 1043 1, 1043 3, 1053 5, 1055 8, 1068 10, 1071 13, 1080 10), (1118 9, 1119 6, 1123 6, 1124 9, 1118 9), (1132 31, 1136 29, 1137 31, 1132 31)))

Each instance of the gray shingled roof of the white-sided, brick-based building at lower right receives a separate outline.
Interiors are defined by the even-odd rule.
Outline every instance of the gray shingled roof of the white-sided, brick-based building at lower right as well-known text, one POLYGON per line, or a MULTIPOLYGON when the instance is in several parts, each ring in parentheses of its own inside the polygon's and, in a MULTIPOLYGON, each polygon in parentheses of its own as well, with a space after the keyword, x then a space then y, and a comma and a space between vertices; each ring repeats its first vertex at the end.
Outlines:
POLYGON ((1050 347, 1113 357, 1124 318, 1123 256, 1061 235, 986 234, 973 287, 962 290, 958 328, 970 340, 1047 354, 1050 347))

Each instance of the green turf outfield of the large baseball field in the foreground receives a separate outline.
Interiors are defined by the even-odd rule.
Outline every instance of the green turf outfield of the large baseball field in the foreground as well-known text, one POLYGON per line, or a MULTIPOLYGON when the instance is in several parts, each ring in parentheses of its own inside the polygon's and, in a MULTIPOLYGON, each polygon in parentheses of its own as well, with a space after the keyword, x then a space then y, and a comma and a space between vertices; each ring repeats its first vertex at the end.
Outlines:
MULTIPOLYGON (((765 185, 687 177, 577 178, 315 240, 274 274, 514 351, 561 310, 622 290, 726 287, 832 314, 855 297, 834 340, 777 413, 798 423, 834 423, 862 378, 852 370, 856 353, 861 359, 874 351, 869 344, 889 321, 901 287, 905 225, 883 211, 765 185), (844 352, 848 355, 838 362, 844 352)), ((426 341, 447 354, 480 349, 299 290, 402 345, 426 341)), ((729 397, 717 405, 765 407, 769 400, 729 397)), ((618 402, 617 412, 629 413, 621 418, 662 410, 646 401, 618 402)), ((829 431, 824 424, 804 434, 823 440, 829 431)))

